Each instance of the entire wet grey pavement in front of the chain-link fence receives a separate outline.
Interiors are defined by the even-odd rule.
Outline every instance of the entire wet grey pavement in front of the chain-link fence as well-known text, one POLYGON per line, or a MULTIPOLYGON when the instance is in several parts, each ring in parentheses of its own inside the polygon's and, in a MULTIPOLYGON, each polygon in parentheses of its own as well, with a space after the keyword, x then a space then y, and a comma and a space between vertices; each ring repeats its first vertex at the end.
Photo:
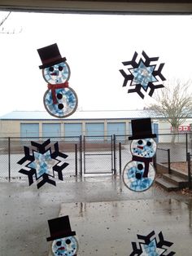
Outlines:
POLYGON ((146 192, 131 192, 120 178, 100 176, 38 190, 26 180, 1 182, 0 193, 1 256, 47 256, 47 220, 59 214, 69 215, 78 255, 129 255, 137 234, 152 231, 162 231, 176 255, 192 255, 192 197, 155 184, 146 192))

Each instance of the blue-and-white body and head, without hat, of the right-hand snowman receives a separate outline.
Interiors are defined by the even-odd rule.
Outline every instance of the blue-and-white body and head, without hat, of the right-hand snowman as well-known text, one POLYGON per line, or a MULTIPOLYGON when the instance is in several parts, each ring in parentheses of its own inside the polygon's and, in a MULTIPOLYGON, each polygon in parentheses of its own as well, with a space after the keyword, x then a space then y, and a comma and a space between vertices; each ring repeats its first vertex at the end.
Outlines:
POLYGON ((151 165, 157 144, 152 138, 133 139, 131 152, 133 160, 123 170, 123 180, 127 188, 134 192, 143 192, 150 188, 155 180, 155 169, 151 165))

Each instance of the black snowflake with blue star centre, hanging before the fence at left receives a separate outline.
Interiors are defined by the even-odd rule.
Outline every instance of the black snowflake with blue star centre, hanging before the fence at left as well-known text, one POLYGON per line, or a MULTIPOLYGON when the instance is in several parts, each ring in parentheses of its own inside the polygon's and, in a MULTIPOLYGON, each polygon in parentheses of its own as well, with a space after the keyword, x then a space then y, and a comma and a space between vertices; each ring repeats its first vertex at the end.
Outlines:
POLYGON ((29 186, 33 183, 34 177, 37 180, 37 188, 41 188, 45 183, 56 186, 55 181, 50 179, 55 178, 55 172, 58 173, 58 179, 63 180, 62 170, 68 166, 68 163, 58 160, 57 157, 65 159, 68 155, 59 152, 58 142, 54 144, 54 152, 51 152, 51 147, 46 148, 49 144, 50 139, 43 143, 31 141, 31 145, 37 148, 37 151, 32 150, 32 154, 30 154, 30 149, 24 146, 25 156, 17 163, 19 165, 25 163, 24 168, 19 172, 28 175, 29 186), (26 164, 26 161, 29 161, 29 163, 26 164))

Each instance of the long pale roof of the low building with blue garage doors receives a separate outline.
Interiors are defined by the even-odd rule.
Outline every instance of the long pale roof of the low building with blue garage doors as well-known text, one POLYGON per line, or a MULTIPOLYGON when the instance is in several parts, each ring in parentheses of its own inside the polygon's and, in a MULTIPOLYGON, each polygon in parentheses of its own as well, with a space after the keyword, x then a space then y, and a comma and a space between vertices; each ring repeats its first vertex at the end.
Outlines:
POLYGON ((134 119, 151 117, 162 118, 152 110, 98 110, 98 111, 76 111, 66 118, 50 116, 46 111, 13 111, 0 117, 0 120, 103 120, 103 119, 134 119))

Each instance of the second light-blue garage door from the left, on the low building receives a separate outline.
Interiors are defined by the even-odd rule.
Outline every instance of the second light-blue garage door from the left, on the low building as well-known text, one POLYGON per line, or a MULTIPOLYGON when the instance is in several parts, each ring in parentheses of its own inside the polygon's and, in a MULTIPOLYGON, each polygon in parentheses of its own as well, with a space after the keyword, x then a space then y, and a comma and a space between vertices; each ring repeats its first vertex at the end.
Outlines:
POLYGON ((60 124, 42 124, 42 136, 46 138, 60 137, 61 125, 60 124))

